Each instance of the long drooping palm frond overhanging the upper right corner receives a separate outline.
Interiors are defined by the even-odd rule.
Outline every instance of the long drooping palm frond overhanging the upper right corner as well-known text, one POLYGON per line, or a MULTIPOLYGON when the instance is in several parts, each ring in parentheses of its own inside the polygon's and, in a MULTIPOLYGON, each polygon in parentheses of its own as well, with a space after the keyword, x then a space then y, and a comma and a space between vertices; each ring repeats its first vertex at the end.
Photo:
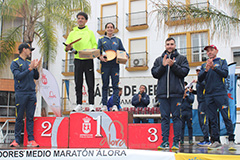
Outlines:
POLYGON ((238 18, 229 16, 211 5, 198 7, 196 5, 181 5, 173 2, 169 4, 163 4, 159 1, 151 2, 155 8, 152 14, 156 13, 158 22, 171 21, 171 17, 177 15, 181 20, 185 20, 181 21, 183 25, 190 25, 198 28, 203 26, 199 22, 203 22, 208 26, 212 26, 215 32, 225 32, 228 34, 232 29, 239 29, 240 20, 238 18))

